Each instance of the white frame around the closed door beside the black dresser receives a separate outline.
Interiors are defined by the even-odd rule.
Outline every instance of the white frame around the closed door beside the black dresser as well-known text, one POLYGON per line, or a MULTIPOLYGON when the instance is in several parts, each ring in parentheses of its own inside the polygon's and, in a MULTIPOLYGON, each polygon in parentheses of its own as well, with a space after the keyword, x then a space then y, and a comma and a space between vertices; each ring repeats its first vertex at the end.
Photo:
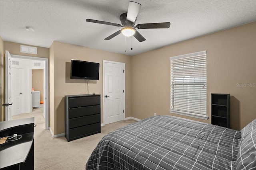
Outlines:
MULTIPOLYGON (((102 124, 102 126, 104 126, 105 125, 105 119, 104 119, 104 117, 105 117, 105 100, 104 100, 104 98, 105 98, 105 64, 106 63, 112 63, 112 64, 122 64, 123 65, 123 68, 124 68, 124 73, 125 73, 125 63, 121 63, 121 62, 116 62, 116 61, 108 61, 108 60, 103 60, 103 70, 102 70, 102 72, 103 72, 103 77, 102 77, 102 81, 103 81, 103 95, 102 95, 102 100, 103 100, 103 124, 102 124)), ((125 119, 125 93, 126 93, 126 90, 125 90, 125 74, 124 74, 124 114, 123 114, 123 120, 125 119)))

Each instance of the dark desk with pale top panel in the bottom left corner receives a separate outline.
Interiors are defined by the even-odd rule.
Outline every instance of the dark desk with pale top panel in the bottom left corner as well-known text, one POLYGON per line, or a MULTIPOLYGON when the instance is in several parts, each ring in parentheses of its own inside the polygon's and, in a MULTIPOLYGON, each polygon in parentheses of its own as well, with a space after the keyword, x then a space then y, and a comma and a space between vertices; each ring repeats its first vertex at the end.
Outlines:
POLYGON ((0 137, 22 135, 0 145, 0 170, 34 169, 34 117, 0 122, 0 137))

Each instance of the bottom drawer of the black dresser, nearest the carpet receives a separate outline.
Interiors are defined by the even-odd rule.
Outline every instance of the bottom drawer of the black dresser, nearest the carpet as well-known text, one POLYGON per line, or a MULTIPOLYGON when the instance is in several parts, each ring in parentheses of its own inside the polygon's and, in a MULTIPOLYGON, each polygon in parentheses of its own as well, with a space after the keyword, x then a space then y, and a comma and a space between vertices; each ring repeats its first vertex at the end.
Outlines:
POLYGON ((69 138, 72 140, 95 133, 100 133, 100 123, 69 129, 69 138))

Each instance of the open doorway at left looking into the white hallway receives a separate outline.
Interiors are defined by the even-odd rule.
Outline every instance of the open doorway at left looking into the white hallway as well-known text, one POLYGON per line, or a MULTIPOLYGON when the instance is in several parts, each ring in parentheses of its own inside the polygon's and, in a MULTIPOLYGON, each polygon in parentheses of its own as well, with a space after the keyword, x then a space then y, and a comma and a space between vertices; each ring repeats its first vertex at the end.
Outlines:
MULTIPOLYGON (((45 111, 44 111, 44 63, 36 60, 12 59, 12 120, 35 117, 37 125, 45 126, 45 111), (16 68, 13 63, 21 63, 27 68, 16 68), (36 66, 34 66, 36 63, 36 66), (33 68, 33 69, 30 69, 33 68), (35 69, 38 68, 38 69, 35 69), (27 69, 27 70, 26 70, 27 69), (31 75, 31 76, 30 76, 31 75), (26 78, 27 77, 27 78, 26 78), (30 79, 28 79, 31 77, 30 79), (28 79, 28 80, 26 80, 28 79), (23 88, 29 81, 32 89, 23 88), (31 91, 31 95, 30 95, 31 91), (32 100, 30 102, 24 100, 28 96, 32 100), (23 101, 22 101, 23 100, 23 101), (25 103, 24 103, 25 102, 25 103), (25 107, 25 108, 24 108, 25 107), (26 109, 27 108, 27 109, 26 109)), ((29 100, 27 100, 29 101, 29 100)))

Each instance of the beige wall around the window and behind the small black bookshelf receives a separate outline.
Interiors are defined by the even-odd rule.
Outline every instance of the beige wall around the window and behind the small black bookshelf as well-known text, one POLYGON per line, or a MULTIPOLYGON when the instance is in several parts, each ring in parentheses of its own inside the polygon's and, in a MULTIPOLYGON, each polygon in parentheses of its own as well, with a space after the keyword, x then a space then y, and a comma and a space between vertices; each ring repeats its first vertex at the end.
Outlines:
MULTIPOLYGON (((171 37, 170 37, 171 38, 171 37)), ((170 109, 169 57, 207 50, 207 115, 210 94, 230 94, 230 127, 240 130, 256 118, 256 22, 212 33, 132 57, 132 116, 174 115, 170 109)))

